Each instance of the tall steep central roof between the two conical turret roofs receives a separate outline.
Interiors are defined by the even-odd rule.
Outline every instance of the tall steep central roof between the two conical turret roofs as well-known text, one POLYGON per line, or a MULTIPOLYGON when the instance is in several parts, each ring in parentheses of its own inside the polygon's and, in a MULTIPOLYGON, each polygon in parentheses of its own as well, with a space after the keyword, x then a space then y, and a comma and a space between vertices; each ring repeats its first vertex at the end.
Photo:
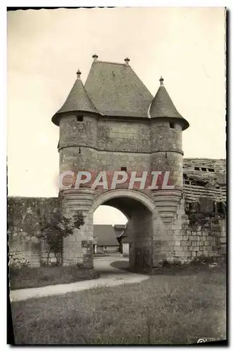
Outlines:
POLYGON ((153 96, 127 64, 93 62, 85 88, 95 107, 105 116, 148 118, 153 96))

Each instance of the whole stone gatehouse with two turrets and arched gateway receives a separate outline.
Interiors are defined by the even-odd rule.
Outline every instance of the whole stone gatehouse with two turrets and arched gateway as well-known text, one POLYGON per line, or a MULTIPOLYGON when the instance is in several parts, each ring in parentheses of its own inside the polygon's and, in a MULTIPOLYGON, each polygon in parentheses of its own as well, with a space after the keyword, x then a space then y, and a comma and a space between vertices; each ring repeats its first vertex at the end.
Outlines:
POLYGON ((63 264, 93 267, 93 213, 106 204, 128 218, 131 267, 154 267, 173 260, 174 246, 179 246, 185 213, 182 131, 189 124, 175 109, 164 79, 153 98, 128 58, 124 64, 100 62, 97 55, 93 59, 85 86, 78 71, 65 104, 52 119, 60 127, 60 175, 73 174, 76 180, 60 189, 64 211, 81 210, 85 216, 84 226, 64 241, 63 264), (144 171, 150 180, 153 172, 160 172, 161 183, 148 186, 140 173, 133 185, 127 178, 115 187, 93 187, 93 175, 97 179, 102 172, 111 178, 114 171, 129 178, 144 171), (86 176, 76 176, 80 172, 86 176))

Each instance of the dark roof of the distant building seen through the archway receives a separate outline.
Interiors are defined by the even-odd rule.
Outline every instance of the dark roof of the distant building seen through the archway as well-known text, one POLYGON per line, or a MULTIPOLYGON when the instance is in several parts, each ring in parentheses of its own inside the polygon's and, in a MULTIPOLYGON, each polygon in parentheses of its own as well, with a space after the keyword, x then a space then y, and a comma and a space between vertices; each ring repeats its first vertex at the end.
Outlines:
POLYGON ((118 246, 114 227, 112 225, 94 225, 94 237, 98 246, 118 246))

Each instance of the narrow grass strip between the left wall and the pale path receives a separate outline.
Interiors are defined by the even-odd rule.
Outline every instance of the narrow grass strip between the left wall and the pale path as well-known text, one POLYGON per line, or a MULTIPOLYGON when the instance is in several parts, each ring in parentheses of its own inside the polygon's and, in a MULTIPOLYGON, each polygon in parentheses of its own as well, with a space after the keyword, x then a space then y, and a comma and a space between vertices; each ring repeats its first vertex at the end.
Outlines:
POLYGON ((68 284, 99 277, 97 272, 76 267, 39 267, 10 270, 11 290, 37 288, 39 286, 68 284))

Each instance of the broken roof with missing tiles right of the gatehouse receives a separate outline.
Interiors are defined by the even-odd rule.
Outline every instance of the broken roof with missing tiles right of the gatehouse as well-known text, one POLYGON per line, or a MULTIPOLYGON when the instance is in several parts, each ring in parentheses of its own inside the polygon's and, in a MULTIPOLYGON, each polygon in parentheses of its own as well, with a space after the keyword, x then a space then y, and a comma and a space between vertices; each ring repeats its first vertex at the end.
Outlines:
POLYGON ((200 197, 226 201, 225 159, 183 159, 183 177, 186 201, 198 202, 200 197))

